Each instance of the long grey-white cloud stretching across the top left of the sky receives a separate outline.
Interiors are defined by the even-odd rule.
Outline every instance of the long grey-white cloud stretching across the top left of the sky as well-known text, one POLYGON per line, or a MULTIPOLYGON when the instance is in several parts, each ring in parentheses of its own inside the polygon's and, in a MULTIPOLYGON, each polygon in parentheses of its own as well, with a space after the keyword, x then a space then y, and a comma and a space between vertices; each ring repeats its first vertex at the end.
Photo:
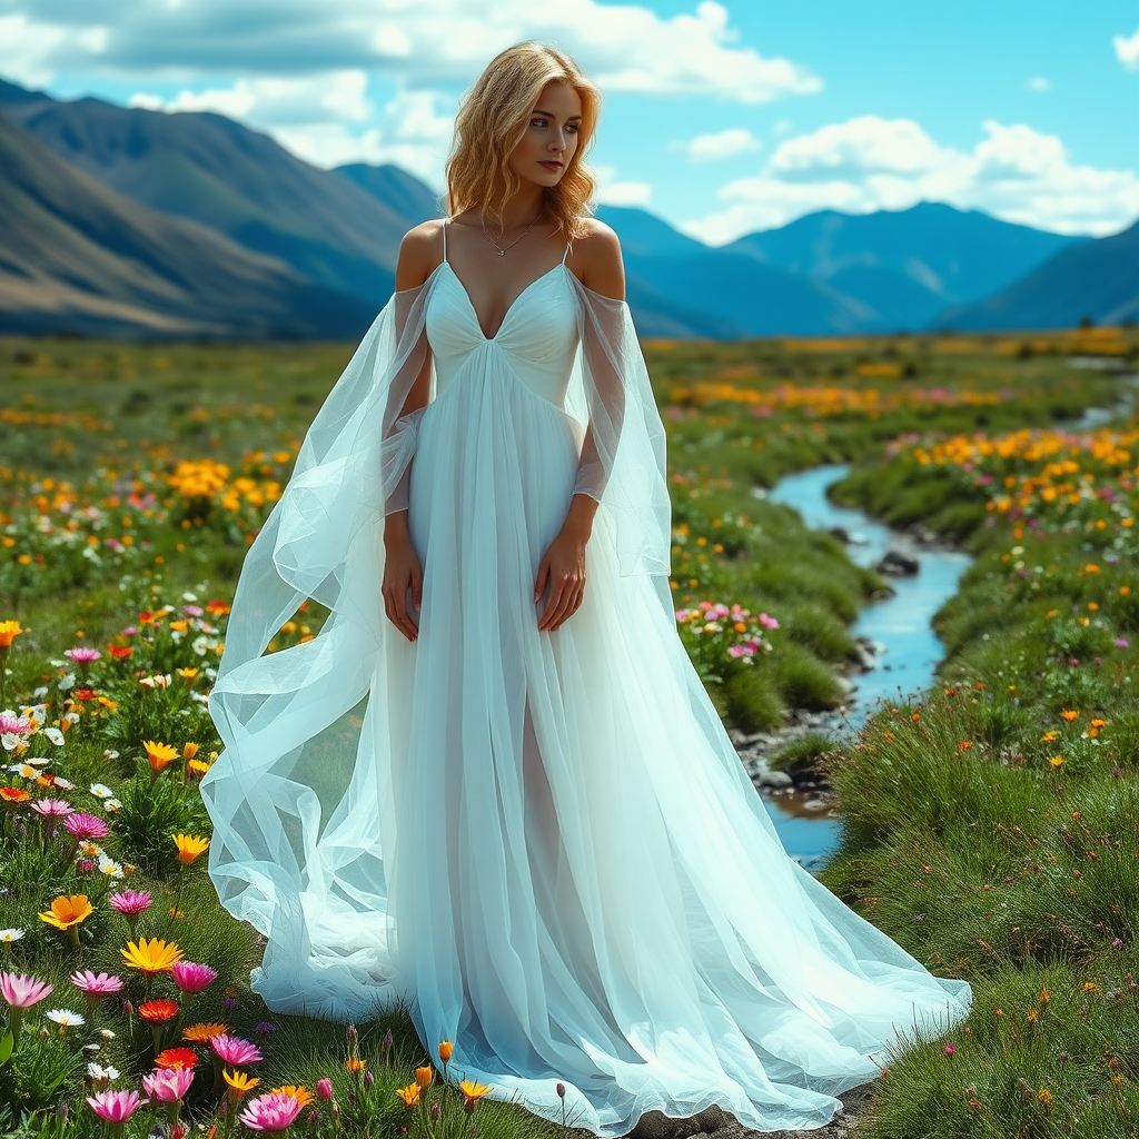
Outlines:
MULTIPOLYGON (((367 69, 413 88, 469 83, 493 55, 523 39, 570 51, 608 91, 711 95, 768 103, 811 95, 822 81, 788 59, 738 42, 721 3, 662 17, 641 3, 560 0, 6 0, 19 35, 0 38, 0 71, 38 76, 81 71, 134 80, 249 79, 367 69), (97 34, 96 34, 97 33, 97 34), (23 71, 19 67, 22 58, 23 71)), ((44 82, 43 77, 38 79, 44 82)))

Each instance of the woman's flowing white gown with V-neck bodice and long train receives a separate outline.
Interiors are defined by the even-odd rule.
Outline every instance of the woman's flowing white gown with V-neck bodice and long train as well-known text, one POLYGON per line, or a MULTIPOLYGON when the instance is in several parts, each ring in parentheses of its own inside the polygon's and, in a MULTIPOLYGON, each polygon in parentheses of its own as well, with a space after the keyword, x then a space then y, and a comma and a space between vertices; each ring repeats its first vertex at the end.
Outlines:
MULTIPOLYGON (((562 264, 486 337, 449 262, 423 288, 418 639, 384 614, 374 502, 325 555, 321 634, 254 645, 212 697, 210 869, 268 939, 253 986, 341 1022, 405 1008, 432 1057, 452 1042, 453 1079, 557 1122, 560 1082, 571 1125, 598 1136, 712 1104, 760 1131, 821 1126, 893 1046, 962 1019, 969 986, 787 857, 667 577, 623 572, 617 511, 597 511, 580 608, 539 631, 538 566, 582 453, 567 385, 600 298, 562 264)), ((309 539, 336 509, 330 454, 294 495, 308 478, 309 539)), ((267 525, 278 562, 290 525, 267 525)))

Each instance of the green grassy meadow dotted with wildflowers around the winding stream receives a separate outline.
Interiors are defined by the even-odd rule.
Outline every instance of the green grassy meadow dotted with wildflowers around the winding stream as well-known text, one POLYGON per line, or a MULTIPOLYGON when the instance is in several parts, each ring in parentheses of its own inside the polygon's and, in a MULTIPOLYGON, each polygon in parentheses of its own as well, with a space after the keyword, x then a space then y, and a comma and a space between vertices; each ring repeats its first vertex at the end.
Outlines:
MULTIPOLYGON (((353 347, 0 339, 0 710, 25 710, 3 737, 0 929, 15 932, 0 933, 0 964, 55 985, 0 1064, 0 1123, 14 1133, 101 1134, 87 1065, 120 1073, 106 1088, 137 1089, 156 1054, 187 1047, 183 1118, 221 1130, 244 1126, 239 1104, 302 1085, 316 1098, 301 1118, 316 1113, 329 1133, 338 1121, 399 1136, 421 1117, 458 1134, 467 1106, 485 1136, 563 1131, 444 1082, 405 1016, 358 1025, 354 1040, 270 1016, 247 986, 256 936, 219 907, 205 859, 172 838, 208 837, 196 779, 219 746, 204 697, 227 603, 353 347), (84 648, 98 658, 84 663, 84 648), (66 818, 33 810, 52 798, 106 836, 90 825, 72 837, 66 818), (126 890, 150 894, 131 920, 108 901, 126 890), (89 915, 52 915, 79 894, 89 915), (192 999, 169 968, 148 982, 123 957, 132 937, 175 941, 218 976, 192 999), (76 969, 125 986, 89 1003, 76 969), (171 1018, 144 1015, 148 999, 174 1000, 149 1009, 171 1018), (56 1008, 85 1023, 41 1011, 56 1008), (223 1066, 208 1042, 219 1024, 263 1059, 223 1066), (431 1077, 419 1091, 417 1068, 431 1077), (260 1083, 241 1090, 237 1071, 260 1083)), ((868 1133, 1133 1133, 1139 433, 1063 425, 1120 392, 1070 358, 1134 367, 1139 335, 657 341, 646 355, 669 431, 681 637, 727 722, 770 728, 788 708, 835 706, 849 625, 883 584, 753 487, 851 461, 847 501, 978 556, 939 617, 944 683, 884 706, 826 760, 846 830, 825 880, 977 992, 966 1029, 891 1063, 868 1133)), ((306 608, 272 647, 320 621, 306 608)))

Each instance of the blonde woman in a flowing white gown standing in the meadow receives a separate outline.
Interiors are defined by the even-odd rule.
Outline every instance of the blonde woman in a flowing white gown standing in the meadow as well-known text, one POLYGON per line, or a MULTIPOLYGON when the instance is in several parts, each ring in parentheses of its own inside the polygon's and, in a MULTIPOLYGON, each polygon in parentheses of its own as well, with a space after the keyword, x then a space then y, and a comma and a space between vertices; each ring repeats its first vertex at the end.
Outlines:
POLYGON ((243 570, 210 872, 271 1009, 407 1007, 491 1098, 600 1136, 818 1128, 969 989, 787 858, 685 654, 598 105, 532 43, 466 99, 452 216, 404 238, 243 570), (261 656, 306 597, 320 634, 261 656))

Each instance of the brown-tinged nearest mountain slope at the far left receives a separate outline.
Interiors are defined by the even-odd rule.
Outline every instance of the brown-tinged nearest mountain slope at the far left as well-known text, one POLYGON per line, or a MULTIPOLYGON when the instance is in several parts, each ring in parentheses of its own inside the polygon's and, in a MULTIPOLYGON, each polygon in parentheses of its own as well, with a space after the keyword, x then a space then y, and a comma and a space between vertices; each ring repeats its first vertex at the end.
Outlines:
POLYGON ((374 317, 273 257, 128 200, 3 114, 0 198, 8 331, 343 337, 374 317))

